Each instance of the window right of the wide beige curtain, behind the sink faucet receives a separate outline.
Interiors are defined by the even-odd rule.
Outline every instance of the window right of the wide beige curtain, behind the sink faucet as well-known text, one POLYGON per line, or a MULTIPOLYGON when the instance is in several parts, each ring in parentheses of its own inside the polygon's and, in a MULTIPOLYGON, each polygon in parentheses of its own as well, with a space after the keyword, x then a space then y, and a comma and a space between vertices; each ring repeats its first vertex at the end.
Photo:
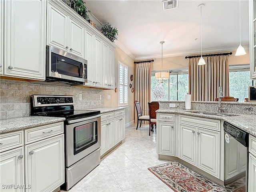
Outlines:
POLYGON ((249 65, 231 65, 229 67, 229 96, 244 102, 248 98, 248 87, 252 86, 249 65))

